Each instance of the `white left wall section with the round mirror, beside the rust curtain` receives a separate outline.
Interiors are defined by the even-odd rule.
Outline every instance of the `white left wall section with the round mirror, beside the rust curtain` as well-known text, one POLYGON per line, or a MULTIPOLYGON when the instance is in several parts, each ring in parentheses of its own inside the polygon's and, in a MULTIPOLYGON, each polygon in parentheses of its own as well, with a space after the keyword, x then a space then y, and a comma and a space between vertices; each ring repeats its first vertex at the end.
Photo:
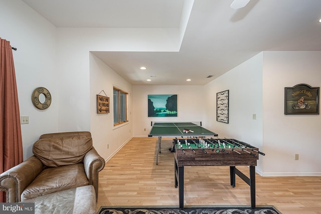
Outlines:
POLYGON ((56 74, 56 28, 21 1, 0 0, 0 37, 17 48, 13 51, 21 116, 24 159, 32 155, 39 136, 58 131, 58 77, 56 74), (45 87, 52 96, 51 106, 39 110, 31 95, 45 87))

